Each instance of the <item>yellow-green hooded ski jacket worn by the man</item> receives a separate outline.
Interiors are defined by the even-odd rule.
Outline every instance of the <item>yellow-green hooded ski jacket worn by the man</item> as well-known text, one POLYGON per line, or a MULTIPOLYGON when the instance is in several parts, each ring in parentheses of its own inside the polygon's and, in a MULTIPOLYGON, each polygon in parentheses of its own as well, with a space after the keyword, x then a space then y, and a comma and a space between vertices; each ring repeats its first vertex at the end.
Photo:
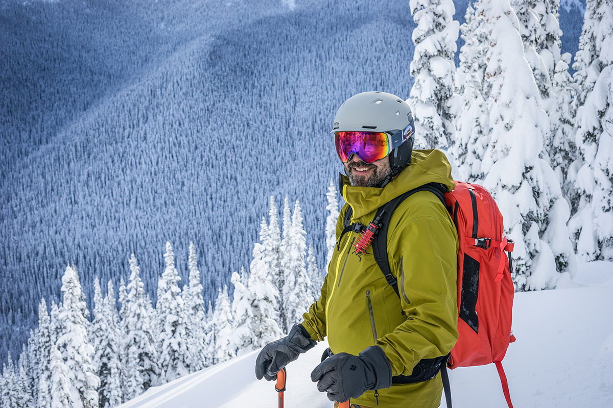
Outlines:
MULTIPOLYGON (((358 232, 340 238, 348 207, 351 222, 368 225, 376 210, 391 199, 429 182, 455 184, 451 166, 440 150, 414 150, 409 166, 384 188, 354 187, 343 176, 345 206, 337 221, 334 250, 321 295, 303 327, 311 338, 327 336, 333 353, 357 355, 368 346, 383 349, 392 376, 410 376, 422 358, 451 351, 457 340, 456 257, 457 232, 449 213, 433 193, 419 191, 394 211, 387 231, 389 265, 398 280, 400 299, 375 262, 372 248, 354 253, 358 232)), ((379 406, 438 407, 441 376, 416 384, 392 384, 378 390, 379 406)), ((367 391, 352 403, 376 407, 375 391, 367 391)))

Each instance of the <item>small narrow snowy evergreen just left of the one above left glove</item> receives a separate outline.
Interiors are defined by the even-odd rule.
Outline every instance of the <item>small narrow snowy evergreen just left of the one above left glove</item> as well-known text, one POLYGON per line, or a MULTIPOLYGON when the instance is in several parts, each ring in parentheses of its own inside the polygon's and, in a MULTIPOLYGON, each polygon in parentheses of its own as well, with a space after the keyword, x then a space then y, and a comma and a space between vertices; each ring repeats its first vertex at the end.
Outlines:
POLYGON ((253 350, 252 321, 253 311, 251 310, 251 293, 248 289, 248 282, 244 280, 245 269, 241 270, 240 275, 232 272, 232 284, 234 285, 234 299, 232 300, 232 348, 237 351, 237 355, 253 350))

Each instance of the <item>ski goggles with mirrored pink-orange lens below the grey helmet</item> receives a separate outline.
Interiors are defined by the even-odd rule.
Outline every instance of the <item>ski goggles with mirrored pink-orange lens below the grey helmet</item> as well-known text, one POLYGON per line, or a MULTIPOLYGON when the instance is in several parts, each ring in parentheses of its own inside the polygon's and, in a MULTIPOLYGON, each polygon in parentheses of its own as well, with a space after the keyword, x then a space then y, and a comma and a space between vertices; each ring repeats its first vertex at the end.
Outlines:
POLYGON ((334 132, 334 144, 338 158, 347 163, 352 155, 365 163, 381 160, 392 150, 413 136, 413 127, 408 125, 405 130, 390 132, 334 132))

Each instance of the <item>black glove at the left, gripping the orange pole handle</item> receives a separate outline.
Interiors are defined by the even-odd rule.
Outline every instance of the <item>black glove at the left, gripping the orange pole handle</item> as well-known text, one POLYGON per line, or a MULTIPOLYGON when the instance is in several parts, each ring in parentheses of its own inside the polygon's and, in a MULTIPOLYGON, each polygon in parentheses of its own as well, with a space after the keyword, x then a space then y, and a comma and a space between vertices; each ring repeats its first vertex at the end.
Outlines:
POLYGON ((295 324, 289 335, 268 343, 264 346, 256 360, 256 377, 268 381, 276 380, 276 373, 288 363, 293 362, 300 353, 315 347, 307 330, 300 324, 295 324))

